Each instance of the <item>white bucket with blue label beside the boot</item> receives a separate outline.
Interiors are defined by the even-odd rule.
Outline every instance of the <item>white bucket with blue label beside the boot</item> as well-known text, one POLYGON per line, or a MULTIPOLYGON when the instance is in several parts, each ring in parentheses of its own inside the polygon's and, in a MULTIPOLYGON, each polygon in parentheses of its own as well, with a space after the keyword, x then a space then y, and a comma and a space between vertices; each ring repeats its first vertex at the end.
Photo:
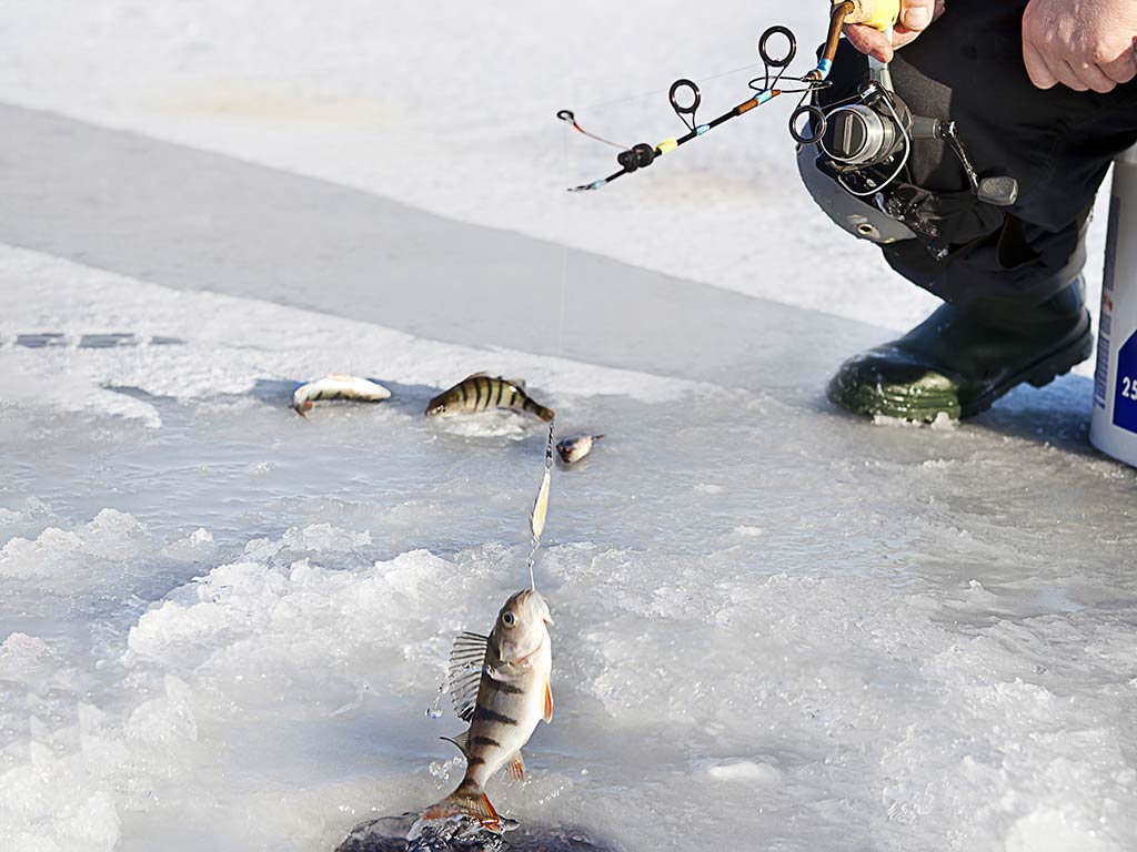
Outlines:
POLYGON ((1137 148, 1113 164, 1089 441, 1137 467, 1137 148))

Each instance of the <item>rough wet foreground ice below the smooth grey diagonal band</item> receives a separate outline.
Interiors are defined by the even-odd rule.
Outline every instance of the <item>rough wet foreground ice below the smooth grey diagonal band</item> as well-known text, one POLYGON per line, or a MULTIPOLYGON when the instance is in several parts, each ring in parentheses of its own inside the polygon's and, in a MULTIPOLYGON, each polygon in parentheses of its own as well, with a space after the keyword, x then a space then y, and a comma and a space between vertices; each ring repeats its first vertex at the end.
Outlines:
MULTIPOLYGON (((327 850, 445 795, 460 724, 422 710, 526 579, 545 445, 533 418, 421 416, 490 353, 8 258, 88 327, 130 304, 118 327, 184 342, 0 352, 85 400, 0 408, 0 847, 327 850), (219 331, 181 318, 218 306, 219 331), (337 351, 395 399, 301 420, 287 377, 337 351)), ((792 387, 492 360, 608 435, 554 471, 557 715, 529 780, 491 783, 504 813, 628 850, 1132 846, 1130 473, 792 387)))

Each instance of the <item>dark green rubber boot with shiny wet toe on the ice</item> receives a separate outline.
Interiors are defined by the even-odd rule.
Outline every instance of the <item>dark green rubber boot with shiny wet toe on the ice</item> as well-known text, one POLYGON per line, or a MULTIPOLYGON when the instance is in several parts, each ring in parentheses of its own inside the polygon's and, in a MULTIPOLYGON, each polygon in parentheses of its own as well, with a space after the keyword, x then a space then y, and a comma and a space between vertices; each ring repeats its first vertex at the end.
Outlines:
POLYGON ((1038 304, 944 304, 899 340, 850 358, 829 399, 870 417, 932 423, 973 417, 1012 387, 1036 387, 1089 358, 1094 340, 1081 276, 1038 304))

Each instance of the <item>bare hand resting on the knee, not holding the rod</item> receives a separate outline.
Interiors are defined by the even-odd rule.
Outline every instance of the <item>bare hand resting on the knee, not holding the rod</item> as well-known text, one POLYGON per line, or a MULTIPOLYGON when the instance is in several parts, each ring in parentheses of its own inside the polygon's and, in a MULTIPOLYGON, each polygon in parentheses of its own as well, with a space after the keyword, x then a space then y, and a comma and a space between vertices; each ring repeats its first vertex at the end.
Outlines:
POLYGON ((1030 0, 1022 16, 1022 58, 1039 89, 1109 92, 1137 76, 1137 3, 1132 0, 1030 0))

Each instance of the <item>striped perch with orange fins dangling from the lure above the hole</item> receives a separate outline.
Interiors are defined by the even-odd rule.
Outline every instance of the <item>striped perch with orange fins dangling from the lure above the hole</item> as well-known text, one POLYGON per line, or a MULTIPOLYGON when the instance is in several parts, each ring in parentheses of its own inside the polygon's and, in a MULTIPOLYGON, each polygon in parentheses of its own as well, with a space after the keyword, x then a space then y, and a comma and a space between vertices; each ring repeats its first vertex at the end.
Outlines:
MULTIPOLYGON (((458 718, 470 727, 449 740, 466 757, 466 774, 450 795, 423 818, 468 815, 499 830, 501 817, 485 795, 485 783, 501 767, 525 777, 521 749, 537 722, 553 721, 549 608, 536 588, 509 598, 489 636, 463 633, 450 653, 450 694, 458 718)), ((447 737, 443 737, 447 738, 447 737)))

